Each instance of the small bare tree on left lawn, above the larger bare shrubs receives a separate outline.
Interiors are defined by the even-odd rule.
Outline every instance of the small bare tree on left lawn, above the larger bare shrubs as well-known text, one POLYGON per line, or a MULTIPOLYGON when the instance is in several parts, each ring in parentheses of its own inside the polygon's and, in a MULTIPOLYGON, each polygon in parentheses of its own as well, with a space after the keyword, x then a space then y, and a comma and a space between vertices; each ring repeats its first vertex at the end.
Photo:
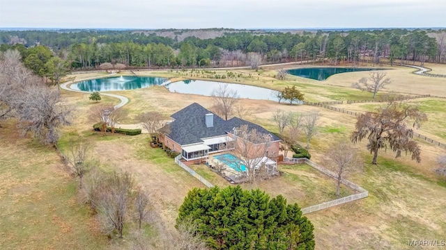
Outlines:
POLYGON ((91 142, 85 140, 68 142, 67 149, 63 152, 64 160, 70 167, 70 171, 79 177, 79 189, 82 189, 82 180, 86 172, 97 165, 89 156, 92 148, 91 142))

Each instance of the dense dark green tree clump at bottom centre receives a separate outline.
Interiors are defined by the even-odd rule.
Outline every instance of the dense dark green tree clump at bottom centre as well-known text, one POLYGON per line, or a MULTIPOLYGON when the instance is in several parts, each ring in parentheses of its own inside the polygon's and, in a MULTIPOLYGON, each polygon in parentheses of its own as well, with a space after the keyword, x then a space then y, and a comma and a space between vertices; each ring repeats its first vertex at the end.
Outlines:
POLYGON ((240 186, 191 190, 177 225, 192 220, 212 249, 314 249, 314 226, 279 195, 240 186))

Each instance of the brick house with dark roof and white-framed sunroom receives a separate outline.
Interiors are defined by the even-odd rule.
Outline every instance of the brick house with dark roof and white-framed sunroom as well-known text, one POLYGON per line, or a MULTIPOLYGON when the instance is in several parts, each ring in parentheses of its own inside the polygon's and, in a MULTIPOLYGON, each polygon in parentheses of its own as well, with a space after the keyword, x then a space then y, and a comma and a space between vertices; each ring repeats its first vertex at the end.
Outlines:
POLYGON ((208 158, 210 153, 231 150, 237 136, 236 128, 246 125, 249 131, 256 129, 270 137, 266 156, 275 157, 279 153, 280 139, 265 128, 238 117, 224 120, 198 103, 171 115, 170 132, 164 135, 164 146, 180 152, 186 161, 208 158))

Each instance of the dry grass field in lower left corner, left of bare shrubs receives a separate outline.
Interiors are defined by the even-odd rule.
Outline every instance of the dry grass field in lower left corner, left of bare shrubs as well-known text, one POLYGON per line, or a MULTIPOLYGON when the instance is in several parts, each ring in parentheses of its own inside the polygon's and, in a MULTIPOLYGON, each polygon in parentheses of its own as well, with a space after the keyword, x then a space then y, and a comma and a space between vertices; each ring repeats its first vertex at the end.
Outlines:
POLYGON ((21 138, 15 122, 0 128, 1 249, 103 249, 77 183, 54 151, 21 138))

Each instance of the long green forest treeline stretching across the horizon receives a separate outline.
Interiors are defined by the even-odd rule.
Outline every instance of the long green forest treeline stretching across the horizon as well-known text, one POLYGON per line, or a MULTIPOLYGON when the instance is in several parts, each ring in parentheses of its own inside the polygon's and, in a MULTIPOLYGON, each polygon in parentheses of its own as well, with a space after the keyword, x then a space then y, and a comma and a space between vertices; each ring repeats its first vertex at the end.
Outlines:
MULTIPOLYGON (((208 31, 212 32, 212 30, 208 31)), ((138 31, 3 31, 0 49, 23 51, 36 44, 49 47, 74 69, 96 69, 102 63, 127 67, 227 67, 299 60, 359 65, 380 63, 446 63, 446 31, 387 29, 318 31, 316 33, 231 32, 212 38, 188 37, 178 42, 138 31), (15 45, 14 45, 15 44, 15 45)))

